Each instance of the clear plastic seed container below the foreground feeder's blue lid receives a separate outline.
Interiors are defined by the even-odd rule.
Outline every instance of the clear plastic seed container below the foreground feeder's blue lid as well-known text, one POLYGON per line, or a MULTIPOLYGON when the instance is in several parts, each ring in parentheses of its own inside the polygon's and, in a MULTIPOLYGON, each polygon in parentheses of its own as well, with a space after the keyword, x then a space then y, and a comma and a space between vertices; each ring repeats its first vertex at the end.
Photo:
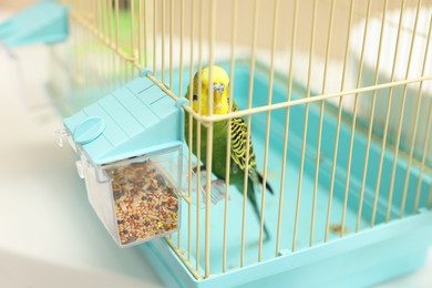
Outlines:
POLYGON ((79 161, 89 200, 119 246, 178 229, 181 154, 178 147, 106 165, 79 161))

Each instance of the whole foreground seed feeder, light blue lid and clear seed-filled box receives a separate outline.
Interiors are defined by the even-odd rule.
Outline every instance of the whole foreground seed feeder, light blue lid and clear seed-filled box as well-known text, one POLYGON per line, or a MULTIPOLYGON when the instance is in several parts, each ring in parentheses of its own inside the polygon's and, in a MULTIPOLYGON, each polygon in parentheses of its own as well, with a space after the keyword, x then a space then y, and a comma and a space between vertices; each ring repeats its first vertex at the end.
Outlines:
POLYGON ((80 156, 89 200, 121 247, 178 229, 181 104, 142 75, 65 119, 58 132, 59 144, 65 136, 80 156))

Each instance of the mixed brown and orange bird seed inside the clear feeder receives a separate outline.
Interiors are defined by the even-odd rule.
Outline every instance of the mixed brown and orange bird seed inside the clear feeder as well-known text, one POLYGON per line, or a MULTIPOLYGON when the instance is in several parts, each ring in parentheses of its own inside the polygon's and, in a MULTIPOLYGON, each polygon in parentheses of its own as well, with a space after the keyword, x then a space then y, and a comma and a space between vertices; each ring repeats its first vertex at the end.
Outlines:
POLYGON ((107 168, 112 177, 115 215, 122 245, 177 229, 175 187, 150 160, 107 168))

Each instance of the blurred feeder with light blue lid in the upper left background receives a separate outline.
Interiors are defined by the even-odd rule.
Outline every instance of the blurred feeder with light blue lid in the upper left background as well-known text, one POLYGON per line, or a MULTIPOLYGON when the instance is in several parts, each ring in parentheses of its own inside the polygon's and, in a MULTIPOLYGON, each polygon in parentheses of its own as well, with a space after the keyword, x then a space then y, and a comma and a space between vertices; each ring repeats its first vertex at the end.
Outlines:
POLYGON ((0 53, 6 51, 16 63, 20 91, 28 107, 50 104, 45 85, 41 84, 48 81, 44 66, 49 54, 41 44, 54 45, 68 38, 69 8, 51 0, 38 1, 0 22, 0 53), (25 45, 32 45, 32 53, 17 49, 25 45), (25 69, 25 63, 30 62, 41 68, 38 75, 25 69))

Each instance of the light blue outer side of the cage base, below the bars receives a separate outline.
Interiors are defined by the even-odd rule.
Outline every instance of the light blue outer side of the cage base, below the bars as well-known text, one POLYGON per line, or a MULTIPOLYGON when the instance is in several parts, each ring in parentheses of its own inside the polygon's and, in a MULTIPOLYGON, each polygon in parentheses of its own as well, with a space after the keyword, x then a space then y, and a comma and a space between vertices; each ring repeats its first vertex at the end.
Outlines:
POLYGON ((168 287, 366 287, 424 265, 432 212, 360 232, 312 248, 196 280, 165 240, 140 246, 168 287))

